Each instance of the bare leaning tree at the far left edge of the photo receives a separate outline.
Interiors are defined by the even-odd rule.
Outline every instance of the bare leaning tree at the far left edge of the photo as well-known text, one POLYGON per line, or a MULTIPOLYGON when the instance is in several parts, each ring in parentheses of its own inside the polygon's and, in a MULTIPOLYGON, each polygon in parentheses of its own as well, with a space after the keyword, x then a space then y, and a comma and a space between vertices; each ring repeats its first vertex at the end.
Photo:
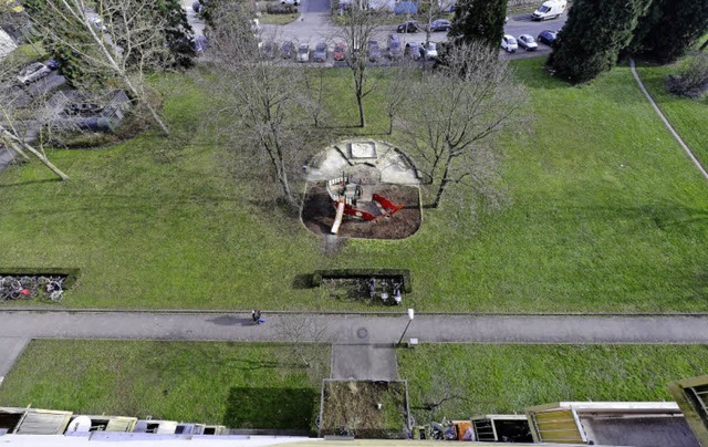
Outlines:
POLYGON ((59 178, 69 180, 69 176, 49 160, 44 148, 35 148, 29 144, 22 132, 22 117, 31 116, 44 103, 43 98, 37 98, 32 104, 23 104, 25 93, 20 90, 15 79, 23 66, 22 61, 13 58, 8 58, 0 64, 0 146, 4 145, 24 160, 33 155, 59 178))

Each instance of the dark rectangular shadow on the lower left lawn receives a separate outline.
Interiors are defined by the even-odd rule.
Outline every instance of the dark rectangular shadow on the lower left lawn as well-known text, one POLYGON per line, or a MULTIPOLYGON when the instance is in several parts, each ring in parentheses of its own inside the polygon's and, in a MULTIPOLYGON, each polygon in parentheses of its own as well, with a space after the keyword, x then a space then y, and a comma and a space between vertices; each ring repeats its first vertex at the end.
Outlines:
POLYGON ((316 398, 317 393, 311 388, 231 387, 222 424, 232 428, 309 430, 316 398))

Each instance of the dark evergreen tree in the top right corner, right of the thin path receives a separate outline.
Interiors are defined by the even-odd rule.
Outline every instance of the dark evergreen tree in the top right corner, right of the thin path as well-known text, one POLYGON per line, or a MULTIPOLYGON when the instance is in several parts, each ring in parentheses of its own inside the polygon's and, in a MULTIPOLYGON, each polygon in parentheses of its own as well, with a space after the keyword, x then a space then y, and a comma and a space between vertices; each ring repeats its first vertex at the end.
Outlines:
POLYGON ((654 0, 639 19, 633 53, 674 62, 708 31, 708 0, 654 0))

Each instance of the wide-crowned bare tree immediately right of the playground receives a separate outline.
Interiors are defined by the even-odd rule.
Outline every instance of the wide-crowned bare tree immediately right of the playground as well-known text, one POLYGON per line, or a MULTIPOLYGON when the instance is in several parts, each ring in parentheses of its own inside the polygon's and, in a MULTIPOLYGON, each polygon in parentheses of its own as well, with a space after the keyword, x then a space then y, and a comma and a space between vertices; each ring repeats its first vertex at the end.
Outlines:
POLYGON ((452 45, 445 60, 413 87, 416 101, 406 108, 404 125, 436 208, 451 185, 467 185, 481 198, 492 196, 494 136, 520 118, 517 112, 525 101, 496 49, 452 45))

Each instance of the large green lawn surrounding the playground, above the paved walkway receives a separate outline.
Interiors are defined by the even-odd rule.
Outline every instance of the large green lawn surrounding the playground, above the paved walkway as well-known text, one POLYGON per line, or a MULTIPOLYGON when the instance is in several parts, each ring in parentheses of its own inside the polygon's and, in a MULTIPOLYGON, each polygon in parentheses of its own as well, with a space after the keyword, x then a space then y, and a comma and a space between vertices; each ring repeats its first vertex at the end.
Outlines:
MULTIPOLYGON (((501 210, 426 209, 406 240, 350 240, 325 256, 240 175, 237 148, 201 126, 205 92, 173 74, 156 82, 169 138, 54 150, 67 183, 35 163, 0 173, 0 267, 80 268, 63 302, 74 308, 371 310, 298 278, 405 268, 405 304, 418 311, 707 311, 708 186, 627 67, 570 86, 543 62, 514 62, 533 126, 500 138, 501 210)), ((385 135, 381 94, 366 98, 367 127, 353 127, 345 73, 326 74, 333 132, 399 141, 385 135)))

